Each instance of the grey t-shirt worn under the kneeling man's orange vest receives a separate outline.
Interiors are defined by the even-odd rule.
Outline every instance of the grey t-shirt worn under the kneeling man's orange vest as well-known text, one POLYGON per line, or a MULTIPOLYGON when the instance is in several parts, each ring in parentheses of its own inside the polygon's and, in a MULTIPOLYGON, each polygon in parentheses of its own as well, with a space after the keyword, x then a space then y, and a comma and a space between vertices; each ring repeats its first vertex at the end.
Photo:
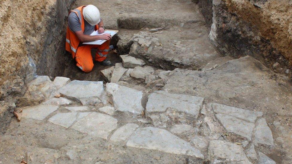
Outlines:
MULTIPOLYGON (((81 31, 81 24, 79 22, 79 18, 76 15, 76 13, 71 12, 69 14, 68 17, 68 24, 69 24, 69 28, 71 31, 73 32, 77 32, 77 31, 81 31)), ((90 35, 94 30, 95 30, 95 26, 90 25, 88 22, 86 22, 86 20, 84 19, 84 34, 86 35, 90 35)))

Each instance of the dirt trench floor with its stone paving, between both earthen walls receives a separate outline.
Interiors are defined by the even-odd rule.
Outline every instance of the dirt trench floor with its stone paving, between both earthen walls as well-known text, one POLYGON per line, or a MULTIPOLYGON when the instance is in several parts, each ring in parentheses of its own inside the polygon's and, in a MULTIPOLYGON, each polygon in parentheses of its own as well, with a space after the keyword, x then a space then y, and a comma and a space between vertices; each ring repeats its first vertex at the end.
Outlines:
POLYGON ((115 62, 31 81, 0 163, 292 162, 287 77, 218 54, 195 4, 77 1, 88 3, 120 30, 115 62))

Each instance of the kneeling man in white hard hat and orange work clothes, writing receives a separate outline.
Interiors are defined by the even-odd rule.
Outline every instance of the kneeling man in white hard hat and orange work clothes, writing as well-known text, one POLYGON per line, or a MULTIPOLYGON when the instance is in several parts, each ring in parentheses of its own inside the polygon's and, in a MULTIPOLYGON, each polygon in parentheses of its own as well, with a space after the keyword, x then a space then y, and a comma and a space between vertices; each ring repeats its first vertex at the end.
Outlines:
POLYGON ((72 54, 73 59, 84 72, 90 72, 93 68, 91 49, 97 49, 95 61, 101 65, 110 65, 107 60, 109 52, 109 42, 112 38, 109 34, 90 36, 90 34, 98 30, 104 33, 104 23, 100 17, 97 7, 93 5, 81 6, 70 11, 68 17, 68 27, 66 34, 66 50, 72 54), (84 45, 83 42, 91 42, 99 39, 106 39, 102 45, 84 45))

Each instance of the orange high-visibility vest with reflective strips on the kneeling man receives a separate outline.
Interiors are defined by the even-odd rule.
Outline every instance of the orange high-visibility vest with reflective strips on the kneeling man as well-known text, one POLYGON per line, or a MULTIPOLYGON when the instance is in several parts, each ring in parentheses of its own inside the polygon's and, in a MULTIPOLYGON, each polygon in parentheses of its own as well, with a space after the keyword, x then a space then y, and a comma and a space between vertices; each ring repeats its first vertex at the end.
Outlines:
MULTIPOLYGON (((83 14, 82 14, 82 7, 85 6, 80 6, 72 11, 69 12, 69 14, 71 12, 76 13, 76 15, 79 18, 80 24, 81 24, 81 30, 82 32, 84 32, 84 18, 83 18, 83 14)), ((95 26, 95 30, 98 30, 98 24, 95 26)), ((78 45, 80 44, 80 40, 78 39, 78 37, 76 36, 76 34, 70 30, 69 25, 67 27, 67 33, 66 33, 66 50, 68 52, 70 52, 72 54, 73 59, 75 58, 75 54, 77 52, 77 48, 78 45)))

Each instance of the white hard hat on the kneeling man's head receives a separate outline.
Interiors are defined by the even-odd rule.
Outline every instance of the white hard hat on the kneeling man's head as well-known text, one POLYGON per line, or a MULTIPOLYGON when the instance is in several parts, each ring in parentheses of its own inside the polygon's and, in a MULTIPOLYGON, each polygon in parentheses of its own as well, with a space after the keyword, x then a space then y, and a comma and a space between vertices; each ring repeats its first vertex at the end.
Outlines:
POLYGON ((97 7, 92 4, 83 8, 83 18, 92 26, 100 22, 100 13, 97 7))

